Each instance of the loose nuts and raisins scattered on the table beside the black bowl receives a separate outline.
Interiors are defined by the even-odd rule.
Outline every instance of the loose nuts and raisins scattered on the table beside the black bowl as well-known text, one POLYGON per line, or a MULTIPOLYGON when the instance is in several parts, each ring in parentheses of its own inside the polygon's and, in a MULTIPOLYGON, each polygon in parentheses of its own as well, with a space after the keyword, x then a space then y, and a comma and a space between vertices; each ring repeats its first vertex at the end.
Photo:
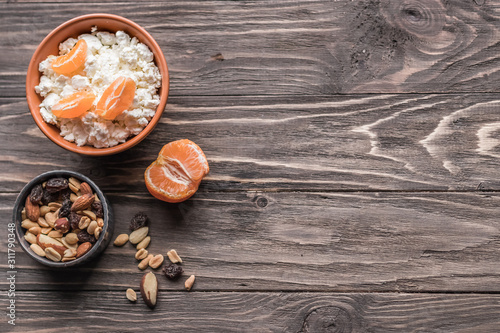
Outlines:
MULTIPOLYGON (((139 260, 137 267, 141 270, 145 270, 150 267, 152 269, 157 269, 161 267, 164 262, 164 257, 161 254, 153 255, 146 249, 151 242, 151 237, 148 236, 149 218, 144 213, 137 213, 130 222, 130 230, 132 231, 130 235, 120 234, 116 237, 114 245, 117 247, 124 246, 127 242, 136 245, 137 252, 135 253, 135 259, 139 260)), ((171 261, 170 264, 164 266, 163 273, 170 280, 177 280, 180 278, 184 270, 180 264, 182 259, 176 250, 170 250, 167 252, 167 257, 171 261)), ((191 275, 184 283, 186 290, 191 290, 195 281, 195 276, 191 275)), ((140 291, 144 303, 150 308, 154 308, 156 305, 156 299, 158 295, 158 280, 153 272, 147 272, 144 274, 140 284, 140 291)), ((128 288, 126 291, 126 297, 129 301, 135 302, 137 300, 136 293, 133 289, 128 288)))

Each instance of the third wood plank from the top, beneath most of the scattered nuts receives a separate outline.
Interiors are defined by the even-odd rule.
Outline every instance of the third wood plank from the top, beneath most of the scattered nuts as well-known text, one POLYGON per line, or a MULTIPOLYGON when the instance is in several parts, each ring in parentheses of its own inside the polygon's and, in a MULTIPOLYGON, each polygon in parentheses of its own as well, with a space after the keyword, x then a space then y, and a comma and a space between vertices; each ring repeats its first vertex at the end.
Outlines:
MULTIPOLYGON (((3 221, 14 197, 0 195, 3 221)), ((109 199, 115 235, 146 211, 150 253, 177 249, 200 291, 500 291, 499 193, 210 192, 177 205, 144 193, 109 199)), ((122 290, 143 274, 134 254, 130 244, 110 246, 97 262, 59 272, 18 252, 17 288, 122 290)), ((162 289, 183 288, 162 281, 162 289)))

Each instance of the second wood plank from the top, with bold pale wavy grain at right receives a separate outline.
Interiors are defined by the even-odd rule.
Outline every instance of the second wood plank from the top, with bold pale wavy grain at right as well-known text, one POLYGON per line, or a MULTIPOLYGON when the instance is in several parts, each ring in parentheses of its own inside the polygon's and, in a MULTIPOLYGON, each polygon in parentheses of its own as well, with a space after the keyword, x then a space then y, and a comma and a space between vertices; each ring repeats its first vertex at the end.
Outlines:
POLYGON ((499 190, 499 107, 499 94, 172 97, 143 143, 91 158, 46 139, 24 99, 4 98, 0 181, 19 191, 66 168, 142 190, 160 148, 189 138, 211 166, 201 191, 499 190))

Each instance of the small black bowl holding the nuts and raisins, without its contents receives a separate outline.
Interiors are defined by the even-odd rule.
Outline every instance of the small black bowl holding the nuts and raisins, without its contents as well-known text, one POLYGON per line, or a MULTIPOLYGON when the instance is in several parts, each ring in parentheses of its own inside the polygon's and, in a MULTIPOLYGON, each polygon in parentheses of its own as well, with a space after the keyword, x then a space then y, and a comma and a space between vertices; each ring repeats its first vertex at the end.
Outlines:
POLYGON ((21 190, 21 193, 19 193, 19 195, 17 196, 16 202, 14 204, 13 221, 16 225, 17 241, 19 244, 21 244, 21 247, 23 248, 24 252, 26 252, 31 258, 38 261, 39 263, 54 268, 75 267, 90 262, 92 259, 96 258, 102 251, 104 251, 104 249, 108 246, 111 237, 113 236, 113 229, 114 229, 113 213, 111 211, 111 206, 106 197, 104 196, 104 194, 102 193, 102 191, 99 189, 99 187, 97 187, 97 185, 92 180, 82 175, 81 173, 67 171, 67 170, 54 170, 42 173, 41 175, 33 178, 28 184, 26 184, 26 186, 24 186, 24 188, 21 190), (31 244, 26 239, 24 239, 24 230, 21 227, 21 221, 22 221, 21 211, 23 210, 26 198, 31 193, 31 189, 35 185, 41 184, 44 181, 55 177, 64 177, 64 178, 75 177, 76 179, 82 182, 87 182, 94 191, 94 193, 97 194, 99 200, 101 200, 104 212, 104 217, 103 217, 104 226, 102 227, 101 236, 99 237, 97 242, 85 255, 68 262, 55 262, 45 257, 40 257, 39 255, 34 253, 33 250, 31 250, 30 248, 31 244))

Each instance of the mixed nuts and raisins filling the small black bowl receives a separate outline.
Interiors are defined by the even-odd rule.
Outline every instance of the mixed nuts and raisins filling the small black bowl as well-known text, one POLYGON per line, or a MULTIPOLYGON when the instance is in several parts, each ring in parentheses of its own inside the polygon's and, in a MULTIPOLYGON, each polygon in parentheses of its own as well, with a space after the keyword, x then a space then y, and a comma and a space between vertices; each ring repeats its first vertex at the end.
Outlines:
POLYGON ((74 177, 51 178, 35 185, 21 215, 31 250, 55 262, 88 253, 104 227, 98 196, 88 183, 74 177))

